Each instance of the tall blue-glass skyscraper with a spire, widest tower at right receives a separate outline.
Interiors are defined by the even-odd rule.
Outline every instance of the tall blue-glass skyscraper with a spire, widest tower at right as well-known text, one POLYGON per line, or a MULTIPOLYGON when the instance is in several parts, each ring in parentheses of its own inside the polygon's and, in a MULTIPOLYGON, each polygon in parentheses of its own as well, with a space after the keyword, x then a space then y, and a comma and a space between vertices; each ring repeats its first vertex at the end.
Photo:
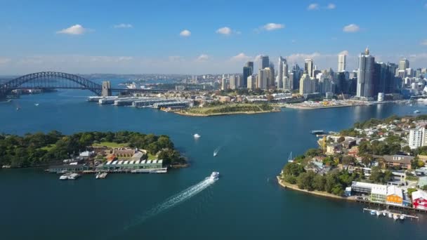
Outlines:
POLYGON ((357 72, 357 97, 374 97, 374 63, 375 58, 369 55, 369 49, 359 55, 359 71, 357 72))

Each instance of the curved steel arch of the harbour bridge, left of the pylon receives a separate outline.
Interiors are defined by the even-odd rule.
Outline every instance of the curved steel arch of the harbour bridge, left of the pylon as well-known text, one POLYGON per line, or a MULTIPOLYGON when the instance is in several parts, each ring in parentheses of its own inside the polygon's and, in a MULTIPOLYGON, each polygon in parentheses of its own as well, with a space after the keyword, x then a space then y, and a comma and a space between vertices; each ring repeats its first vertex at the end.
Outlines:
POLYGON ((33 86, 30 86, 29 88, 79 88, 87 89, 96 95, 101 95, 102 93, 101 84, 89 81, 88 79, 85 79, 81 76, 67 74, 65 72, 36 72, 20 76, 16 79, 12 79, 11 81, 6 81, 6 83, 1 84, 0 97, 1 95, 7 95, 12 90, 19 88, 23 84, 33 84, 33 86), (64 83, 57 83, 55 85, 51 81, 55 79, 65 79, 77 85, 67 86, 64 83))

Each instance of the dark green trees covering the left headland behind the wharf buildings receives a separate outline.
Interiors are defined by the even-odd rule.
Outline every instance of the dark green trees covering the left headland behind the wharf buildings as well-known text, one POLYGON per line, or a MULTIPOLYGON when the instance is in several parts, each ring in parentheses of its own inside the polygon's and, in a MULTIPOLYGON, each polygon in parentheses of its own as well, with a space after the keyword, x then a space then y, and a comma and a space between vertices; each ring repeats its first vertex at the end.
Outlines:
POLYGON ((63 135, 51 131, 23 136, 0 135, 0 165, 29 167, 62 161, 91 149, 91 145, 98 142, 126 143, 129 147, 147 149, 150 154, 158 154, 159 159, 163 159, 166 164, 185 162, 180 153, 173 149, 173 142, 167 135, 146 135, 131 131, 63 135))

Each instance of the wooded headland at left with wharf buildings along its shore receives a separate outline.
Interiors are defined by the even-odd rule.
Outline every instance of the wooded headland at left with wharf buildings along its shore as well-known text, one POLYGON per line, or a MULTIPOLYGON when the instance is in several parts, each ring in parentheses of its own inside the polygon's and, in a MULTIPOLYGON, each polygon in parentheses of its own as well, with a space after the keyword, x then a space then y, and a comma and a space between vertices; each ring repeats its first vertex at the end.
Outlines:
MULTIPOLYGON (((167 135, 131 131, 84 132, 63 135, 58 131, 0 135, 0 166, 25 168, 78 163, 96 170, 107 161, 161 159, 162 166, 185 166, 187 161, 174 149, 167 135)), ((160 161, 159 161, 160 162, 160 161)))

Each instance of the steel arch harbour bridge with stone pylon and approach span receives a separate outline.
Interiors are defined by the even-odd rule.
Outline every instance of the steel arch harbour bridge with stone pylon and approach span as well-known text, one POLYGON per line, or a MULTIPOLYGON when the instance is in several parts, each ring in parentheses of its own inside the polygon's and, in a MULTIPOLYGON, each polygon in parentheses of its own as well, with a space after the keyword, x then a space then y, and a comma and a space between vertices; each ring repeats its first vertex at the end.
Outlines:
POLYGON ((126 89, 126 88, 112 88, 110 81, 103 81, 98 84, 89 81, 84 77, 67 74, 65 72, 36 72, 20 76, 16 79, 6 81, 0 85, 0 98, 6 98, 7 95, 15 89, 81 89, 88 90, 98 96, 110 96, 112 92, 117 93, 163 93, 166 90, 155 89, 126 89))

